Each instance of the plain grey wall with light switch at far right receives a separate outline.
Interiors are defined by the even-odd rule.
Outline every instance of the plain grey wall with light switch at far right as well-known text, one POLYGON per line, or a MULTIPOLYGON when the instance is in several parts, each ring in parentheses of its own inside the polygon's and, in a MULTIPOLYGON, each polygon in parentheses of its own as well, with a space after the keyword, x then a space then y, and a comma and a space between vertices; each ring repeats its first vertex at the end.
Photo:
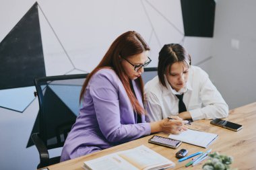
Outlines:
POLYGON ((230 109, 256 101, 255 16, 254 0, 216 3, 210 77, 230 109))

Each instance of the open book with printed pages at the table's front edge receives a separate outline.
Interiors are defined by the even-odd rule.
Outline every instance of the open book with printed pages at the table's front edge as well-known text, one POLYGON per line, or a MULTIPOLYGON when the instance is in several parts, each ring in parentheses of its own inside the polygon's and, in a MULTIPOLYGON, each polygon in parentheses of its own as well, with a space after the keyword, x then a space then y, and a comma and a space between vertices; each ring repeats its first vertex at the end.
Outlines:
POLYGON ((83 168, 86 170, 157 170, 174 166, 175 164, 172 161, 166 159, 155 151, 152 151, 150 148, 141 145, 126 151, 120 151, 118 153, 85 161, 83 168))

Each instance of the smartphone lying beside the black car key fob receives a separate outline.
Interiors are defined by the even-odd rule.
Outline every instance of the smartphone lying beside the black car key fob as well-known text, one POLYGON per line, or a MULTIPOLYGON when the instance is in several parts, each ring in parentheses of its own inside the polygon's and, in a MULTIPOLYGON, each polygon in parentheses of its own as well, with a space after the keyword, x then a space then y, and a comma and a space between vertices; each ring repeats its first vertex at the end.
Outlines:
POLYGON ((168 148, 178 148, 181 145, 180 140, 174 140, 171 138, 165 138, 163 136, 154 135, 148 140, 149 143, 166 146, 168 148))

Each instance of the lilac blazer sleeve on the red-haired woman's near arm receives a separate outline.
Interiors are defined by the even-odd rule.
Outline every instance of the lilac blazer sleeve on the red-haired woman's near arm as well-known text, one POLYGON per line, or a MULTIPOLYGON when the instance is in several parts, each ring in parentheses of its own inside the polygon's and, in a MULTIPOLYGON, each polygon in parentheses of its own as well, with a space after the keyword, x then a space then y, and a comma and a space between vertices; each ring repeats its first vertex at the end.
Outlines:
MULTIPOLYGON (((102 70, 104 71, 98 71, 90 80, 90 95, 93 99, 98 125, 106 140, 127 142, 150 134, 149 123, 121 124, 121 116, 133 115, 133 112, 121 113, 118 84, 121 81, 113 70, 102 70)), ((125 111, 128 112, 129 109, 125 111)))

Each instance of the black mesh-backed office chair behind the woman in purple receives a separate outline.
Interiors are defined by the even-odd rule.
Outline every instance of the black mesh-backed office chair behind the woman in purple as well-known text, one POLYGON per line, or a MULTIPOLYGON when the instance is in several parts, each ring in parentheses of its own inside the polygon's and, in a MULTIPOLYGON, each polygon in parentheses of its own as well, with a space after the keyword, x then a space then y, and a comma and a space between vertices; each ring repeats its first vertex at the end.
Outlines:
POLYGON ((49 149, 62 147, 79 113, 79 93, 88 74, 34 79, 39 101, 39 132, 31 135, 39 152, 37 168, 59 163, 49 149))

